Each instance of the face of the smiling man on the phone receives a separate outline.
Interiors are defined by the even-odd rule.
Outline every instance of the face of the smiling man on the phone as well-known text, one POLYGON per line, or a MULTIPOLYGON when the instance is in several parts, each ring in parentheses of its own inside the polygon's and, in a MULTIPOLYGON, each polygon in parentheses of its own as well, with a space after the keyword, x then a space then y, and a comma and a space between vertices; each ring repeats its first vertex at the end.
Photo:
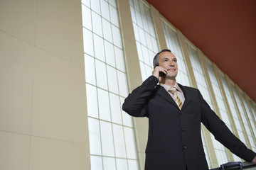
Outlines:
POLYGON ((166 78, 174 79, 178 74, 178 65, 175 55, 171 52, 161 52, 159 66, 167 69, 166 78))

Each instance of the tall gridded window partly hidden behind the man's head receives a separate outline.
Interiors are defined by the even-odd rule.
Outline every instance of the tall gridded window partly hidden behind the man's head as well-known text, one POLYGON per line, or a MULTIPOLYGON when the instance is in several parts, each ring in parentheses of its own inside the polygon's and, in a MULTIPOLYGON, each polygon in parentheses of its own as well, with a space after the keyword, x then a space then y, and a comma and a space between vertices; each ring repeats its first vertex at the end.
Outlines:
POLYGON ((159 52, 149 7, 142 1, 129 0, 142 80, 151 76, 153 58, 159 52))

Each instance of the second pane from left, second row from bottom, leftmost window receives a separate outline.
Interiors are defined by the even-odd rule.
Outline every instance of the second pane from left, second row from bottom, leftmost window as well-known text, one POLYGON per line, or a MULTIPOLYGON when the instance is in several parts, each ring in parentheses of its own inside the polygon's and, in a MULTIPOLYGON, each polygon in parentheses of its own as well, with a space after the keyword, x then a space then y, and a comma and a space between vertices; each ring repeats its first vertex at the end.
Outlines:
POLYGON ((102 155, 114 157, 114 142, 111 123, 100 120, 102 155))

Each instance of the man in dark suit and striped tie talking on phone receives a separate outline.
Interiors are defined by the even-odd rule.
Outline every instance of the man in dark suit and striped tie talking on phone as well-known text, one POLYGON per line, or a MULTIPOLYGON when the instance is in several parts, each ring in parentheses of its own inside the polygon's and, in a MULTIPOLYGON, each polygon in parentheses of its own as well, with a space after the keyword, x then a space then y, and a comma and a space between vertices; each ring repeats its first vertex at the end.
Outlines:
POLYGON ((134 89, 122 106, 129 115, 149 118, 145 169, 208 169, 201 123, 231 152, 256 163, 256 153, 228 130, 200 91, 177 84, 177 73, 176 57, 170 50, 162 50, 154 57, 152 76, 134 89))

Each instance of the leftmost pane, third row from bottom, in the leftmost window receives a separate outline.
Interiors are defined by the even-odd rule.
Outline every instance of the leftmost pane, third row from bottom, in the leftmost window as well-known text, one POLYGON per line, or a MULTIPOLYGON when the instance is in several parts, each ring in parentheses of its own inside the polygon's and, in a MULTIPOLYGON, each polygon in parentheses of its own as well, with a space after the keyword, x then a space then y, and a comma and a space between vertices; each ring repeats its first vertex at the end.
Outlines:
POLYGON ((87 114, 88 116, 99 118, 97 107, 97 91, 96 87, 86 84, 86 97, 87 97, 87 114), (90 98, 90 100, 88 100, 90 98))

